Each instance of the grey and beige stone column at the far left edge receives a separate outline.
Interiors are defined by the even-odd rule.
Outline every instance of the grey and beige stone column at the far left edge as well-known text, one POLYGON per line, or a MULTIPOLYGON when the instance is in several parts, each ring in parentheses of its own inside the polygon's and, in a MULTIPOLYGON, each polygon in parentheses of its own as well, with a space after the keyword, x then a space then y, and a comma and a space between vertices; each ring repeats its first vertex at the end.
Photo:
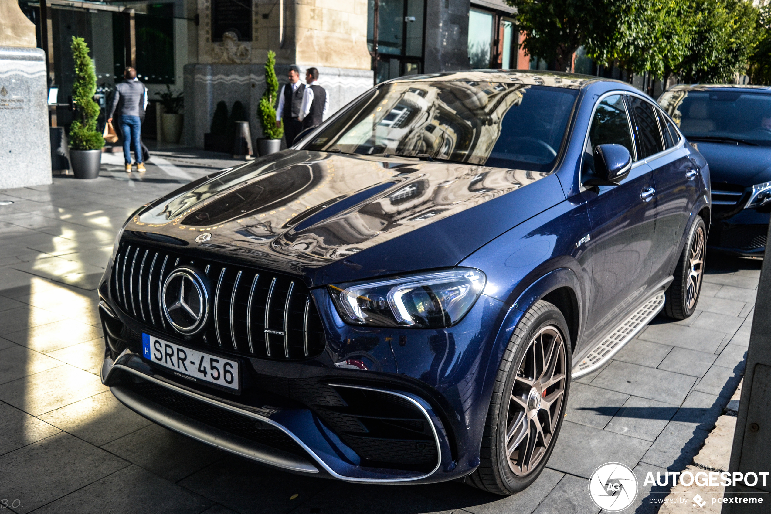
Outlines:
POLYGON ((0 189, 49 184, 45 52, 15 0, 0 0, 0 189))

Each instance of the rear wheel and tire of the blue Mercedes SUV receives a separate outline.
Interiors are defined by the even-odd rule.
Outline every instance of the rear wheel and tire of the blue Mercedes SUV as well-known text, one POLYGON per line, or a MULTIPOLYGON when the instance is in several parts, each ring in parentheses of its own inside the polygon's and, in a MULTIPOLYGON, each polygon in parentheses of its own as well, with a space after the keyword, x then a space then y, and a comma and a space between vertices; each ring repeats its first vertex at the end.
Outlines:
POLYGON ((664 297, 664 314, 675 320, 684 320, 696 310, 702 292, 707 230, 704 220, 697 216, 691 224, 677 267, 675 280, 669 284, 664 297))

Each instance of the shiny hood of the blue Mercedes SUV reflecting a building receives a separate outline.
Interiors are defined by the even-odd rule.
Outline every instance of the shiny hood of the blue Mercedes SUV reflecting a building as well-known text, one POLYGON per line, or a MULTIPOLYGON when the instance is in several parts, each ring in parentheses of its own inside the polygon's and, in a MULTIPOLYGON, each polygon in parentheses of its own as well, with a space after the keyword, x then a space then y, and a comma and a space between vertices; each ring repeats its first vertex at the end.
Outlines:
POLYGON ((183 186, 126 234, 314 286, 454 266, 561 200, 550 173, 284 150, 183 186))

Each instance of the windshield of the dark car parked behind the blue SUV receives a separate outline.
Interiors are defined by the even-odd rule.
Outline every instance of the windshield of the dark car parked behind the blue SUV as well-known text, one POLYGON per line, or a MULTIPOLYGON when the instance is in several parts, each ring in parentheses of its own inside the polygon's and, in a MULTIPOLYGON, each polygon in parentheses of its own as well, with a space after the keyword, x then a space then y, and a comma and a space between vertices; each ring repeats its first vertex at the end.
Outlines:
POLYGON ((658 103, 689 139, 771 146, 771 94, 674 89, 658 103))

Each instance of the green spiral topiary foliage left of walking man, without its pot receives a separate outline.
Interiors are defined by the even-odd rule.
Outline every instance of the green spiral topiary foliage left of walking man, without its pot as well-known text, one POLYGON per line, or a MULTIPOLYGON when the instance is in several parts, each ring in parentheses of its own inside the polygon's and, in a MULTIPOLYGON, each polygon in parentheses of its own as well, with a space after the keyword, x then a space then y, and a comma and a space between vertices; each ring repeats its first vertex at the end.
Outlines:
POLYGON ((96 73, 89 57, 89 47, 82 38, 72 36, 72 59, 75 61, 75 82, 72 100, 76 103, 75 119, 69 127, 69 143, 73 149, 96 150, 104 146, 104 138, 96 129, 99 104, 94 102, 96 73))

